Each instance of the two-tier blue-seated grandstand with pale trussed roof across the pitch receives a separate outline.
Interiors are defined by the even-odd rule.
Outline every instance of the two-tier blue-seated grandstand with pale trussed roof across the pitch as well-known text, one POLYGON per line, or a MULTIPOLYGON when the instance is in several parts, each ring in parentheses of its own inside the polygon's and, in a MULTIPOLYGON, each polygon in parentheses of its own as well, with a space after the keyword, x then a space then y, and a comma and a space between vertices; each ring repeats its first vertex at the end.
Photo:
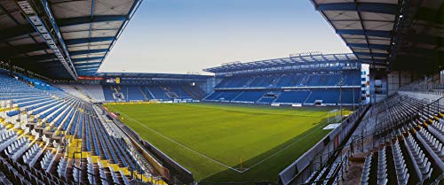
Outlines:
POLYGON ((222 80, 203 101, 274 105, 361 104, 361 63, 350 54, 299 55, 218 66, 222 80), (294 73, 297 70, 298 73, 294 73))

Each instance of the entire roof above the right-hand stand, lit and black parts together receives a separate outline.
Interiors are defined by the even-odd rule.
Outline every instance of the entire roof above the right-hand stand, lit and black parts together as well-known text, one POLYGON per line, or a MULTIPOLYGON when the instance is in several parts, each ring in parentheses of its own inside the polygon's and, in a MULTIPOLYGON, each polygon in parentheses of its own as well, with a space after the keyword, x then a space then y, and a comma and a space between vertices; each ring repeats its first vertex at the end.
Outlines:
POLYGON ((394 66, 398 70, 442 67, 436 65, 442 65, 444 60, 443 1, 312 2, 362 63, 394 66))

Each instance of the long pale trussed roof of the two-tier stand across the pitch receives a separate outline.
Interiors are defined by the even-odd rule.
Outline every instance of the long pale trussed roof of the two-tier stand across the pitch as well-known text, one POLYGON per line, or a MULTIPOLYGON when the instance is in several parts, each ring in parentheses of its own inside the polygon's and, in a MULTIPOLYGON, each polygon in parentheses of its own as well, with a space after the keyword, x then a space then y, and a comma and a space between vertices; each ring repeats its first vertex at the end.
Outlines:
POLYGON ((279 66, 296 66, 299 64, 307 64, 307 63, 321 63, 321 62, 331 62, 331 61, 351 61, 356 60, 357 58, 353 55, 353 53, 345 53, 345 54, 300 54, 295 57, 289 58, 276 58, 276 59, 267 59, 267 60, 259 60, 255 62, 233 62, 223 64, 222 66, 211 67, 207 69, 203 69, 204 72, 210 73, 226 73, 233 71, 242 71, 242 70, 250 70, 250 69, 258 69, 264 67, 279 67, 279 66))

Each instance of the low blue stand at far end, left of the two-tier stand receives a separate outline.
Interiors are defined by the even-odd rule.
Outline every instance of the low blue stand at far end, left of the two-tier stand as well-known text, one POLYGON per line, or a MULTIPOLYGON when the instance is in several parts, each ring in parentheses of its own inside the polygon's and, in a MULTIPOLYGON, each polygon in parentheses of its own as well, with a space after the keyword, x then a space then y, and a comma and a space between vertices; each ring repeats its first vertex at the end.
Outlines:
MULTIPOLYGON (((138 102, 138 101, 192 101, 201 100, 203 90, 211 76, 191 74, 156 73, 104 73, 99 81, 105 101, 98 102, 138 102), (119 83, 115 82, 119 79, 119 83)), ((79 85, 80 89, 85 88, 79 85)), ((97 86, 99 89, 99 86, 97 86)), ((88 92, 89 93, 89 92, 88 92)), ((101 95, 100 95, 101 96, 101 95)))

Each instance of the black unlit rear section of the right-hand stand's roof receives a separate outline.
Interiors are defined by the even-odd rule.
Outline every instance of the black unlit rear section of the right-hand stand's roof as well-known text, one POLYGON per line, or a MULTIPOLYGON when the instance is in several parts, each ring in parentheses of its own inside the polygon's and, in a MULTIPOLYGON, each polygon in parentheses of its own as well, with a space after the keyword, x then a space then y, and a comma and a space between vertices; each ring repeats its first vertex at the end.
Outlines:
POLYGON ((392 68, 436 73, 444 69, 444 1, 409 0, 402 4, 392 68))

